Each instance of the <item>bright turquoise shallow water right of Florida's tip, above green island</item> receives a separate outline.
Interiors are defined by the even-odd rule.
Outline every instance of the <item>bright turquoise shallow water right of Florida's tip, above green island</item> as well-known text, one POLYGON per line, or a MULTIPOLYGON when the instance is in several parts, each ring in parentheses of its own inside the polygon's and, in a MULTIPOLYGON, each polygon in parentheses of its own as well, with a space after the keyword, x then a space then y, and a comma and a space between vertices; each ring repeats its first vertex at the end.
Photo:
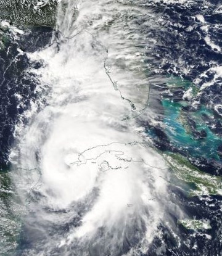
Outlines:
POLYGON ((183 102, 172 102, 170 99, 163 99, 162 105, 164 108, 165 133, 171 144, 182 147, 184 151, 194 157, 220 160, 217 151, 221 144, 221 138, 213 133, 202 119, 203 114, 212 115, 210 110, 201 106, 197 112, 189 113, 190 118, 196 121, 195 130, 204 131, 205 135, 204 138, 195 138, 192 131, 191 133, 187 132, 185 125, 179 119, 179 115, 183 112, 183 102))

